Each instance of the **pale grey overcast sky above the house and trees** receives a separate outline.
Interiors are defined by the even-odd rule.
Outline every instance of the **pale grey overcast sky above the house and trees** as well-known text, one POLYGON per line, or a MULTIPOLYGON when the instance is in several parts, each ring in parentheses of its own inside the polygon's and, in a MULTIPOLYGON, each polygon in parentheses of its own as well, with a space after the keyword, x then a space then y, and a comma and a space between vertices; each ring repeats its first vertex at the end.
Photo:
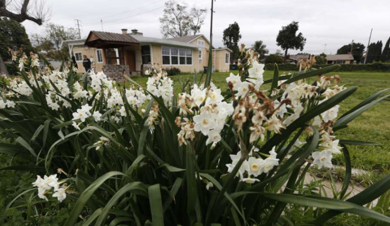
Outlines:
MULTIPOLYGON (((147 37, 161 38, 158 18, 163 15, 166 0, 50 0, 49 22, 75 27, 74 19, 81 20, 82 38, 90 30, 120 33, 121 28, 137 28, 147 37)), ((189 7, 211 8, 211 0, 182 0, 189 7)), ((240 25, 239 43, 250 46, 263 40, 274 53, 280 49, 276 36, 282 26, 299 21, 299 31, 307 39, 304 52, 335 54, 343 45, 354 42, 367 46, 371 42, 390 37, 390 0, 216 0, 214 2, 213 45, 223 46, 223 29, 235 21, 240 25), (326 46, 325 46, 326 44, 326 46), (325 48, 326 47, 326 48, 325 48)), ((44 27, 23 22, 27 34, 42 33, 44 27)), ((210 10, 201 33, 210 37, 210 10)), ((297 51, 289 51, 296 53, 297 51)))

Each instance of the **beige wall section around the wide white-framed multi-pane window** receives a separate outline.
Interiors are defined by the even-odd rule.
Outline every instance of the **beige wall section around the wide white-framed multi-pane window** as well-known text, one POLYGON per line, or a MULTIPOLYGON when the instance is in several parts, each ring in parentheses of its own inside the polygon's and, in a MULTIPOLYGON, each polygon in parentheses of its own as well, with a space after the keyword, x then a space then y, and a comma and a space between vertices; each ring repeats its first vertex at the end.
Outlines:
MULTIPOLYGON (((163 65, 161 46, 152 45, 152 61, 153 63, 160 64, 161 66, 163 66, 163 68, 175 67, 180 69, 181 72, 193 73, 193 70, 196 70, 198 72, 200 70, 198 56, 199 56, 199 51, 192 49, 192 65, 163 65)), ((203 68, 201 70, 203 70, 203 68)))

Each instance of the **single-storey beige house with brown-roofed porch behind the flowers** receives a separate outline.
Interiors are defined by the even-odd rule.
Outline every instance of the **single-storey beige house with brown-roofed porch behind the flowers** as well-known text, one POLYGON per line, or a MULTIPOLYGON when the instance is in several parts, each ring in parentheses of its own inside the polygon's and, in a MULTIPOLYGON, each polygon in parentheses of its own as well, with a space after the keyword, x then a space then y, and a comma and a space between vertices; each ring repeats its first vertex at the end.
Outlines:
MULTIPOLYGON (((144 37, 137 29, 127 33, 90 31, 86 39, 63 41, 71 56, 75 56, 79 72, 84 73, 82 56, 91 59, 95 72, 104 71, 116 79, 126 74, 142 74, 148 63, 159 63, 163 68, 175 67, 182 72, 201 72, 207 67, 209 40, 204 35, 184 36, 171 39, 144 37)), ((229 71, 232 50, 213 49, 215 71, 229 71)))

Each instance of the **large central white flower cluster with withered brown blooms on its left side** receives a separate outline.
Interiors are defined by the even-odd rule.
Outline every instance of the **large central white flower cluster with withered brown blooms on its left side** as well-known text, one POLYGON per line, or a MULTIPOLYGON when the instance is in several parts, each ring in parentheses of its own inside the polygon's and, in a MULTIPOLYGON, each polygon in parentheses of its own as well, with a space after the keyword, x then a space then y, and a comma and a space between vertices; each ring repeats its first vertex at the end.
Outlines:
POLYGON ((184 122, 182 122, 181 117, 177 118, 176 124, 181 127, 178 134, 180 144, 186 144, 185 140, 192 140, 193 132, 201 132, 207 136, 206 145, 219 142, 226 118, 234 111, 232 103, 223 101, 220 89, 201 90, 196 84, 193 85, 191 94, 179 94, 178 106, 183 116, 187 113, 195 114, 193 123, 188 119, 183 119, 184 122))

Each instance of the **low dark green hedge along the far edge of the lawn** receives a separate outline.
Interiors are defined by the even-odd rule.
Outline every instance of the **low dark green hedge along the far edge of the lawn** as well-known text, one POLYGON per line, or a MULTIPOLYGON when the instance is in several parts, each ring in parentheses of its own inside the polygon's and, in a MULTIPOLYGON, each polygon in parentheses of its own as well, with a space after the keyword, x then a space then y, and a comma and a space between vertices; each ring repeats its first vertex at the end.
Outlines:
MULTIPOLYGON (((329 66, 329 64, 315 64, 313 68, 319 69, 329 66)), ((390 72, 390 63, 367 63, 367 64, 340 64, 341 68, 339 72, 356 72, 356 71, 369 71, 369 72, 390 72)), ((279 71, 297 71, 298 66, 292 63, 278 64, 279 71)), ((237 69, 237 64, 231 64, 231 70, 237 69)), ((273 71, 274 64, 266 63, 266 71, 273 71)))

